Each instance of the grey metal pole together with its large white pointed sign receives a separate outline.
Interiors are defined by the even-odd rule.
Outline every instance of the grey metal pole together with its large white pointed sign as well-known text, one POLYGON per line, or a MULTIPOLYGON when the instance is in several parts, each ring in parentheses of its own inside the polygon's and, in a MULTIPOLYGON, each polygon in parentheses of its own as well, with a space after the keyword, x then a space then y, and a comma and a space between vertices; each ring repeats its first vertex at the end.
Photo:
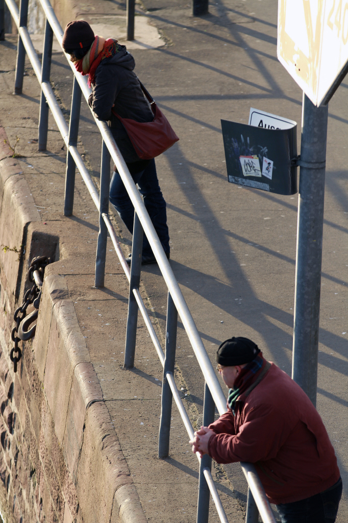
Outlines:
POLYGON ((327 104, 348 71, 348 0, 279 0, 277 55, 304 91, 293 379, 316 405, 327 104))

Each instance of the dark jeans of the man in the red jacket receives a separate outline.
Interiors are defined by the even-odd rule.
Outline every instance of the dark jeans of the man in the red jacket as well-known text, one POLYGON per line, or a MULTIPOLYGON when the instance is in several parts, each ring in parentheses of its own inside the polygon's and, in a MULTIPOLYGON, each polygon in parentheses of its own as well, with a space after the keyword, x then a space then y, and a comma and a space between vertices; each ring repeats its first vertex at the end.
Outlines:
POLYGON ((277 505, 282 523, 334 523, 342 495, 342 480, 315 496, 277 505))

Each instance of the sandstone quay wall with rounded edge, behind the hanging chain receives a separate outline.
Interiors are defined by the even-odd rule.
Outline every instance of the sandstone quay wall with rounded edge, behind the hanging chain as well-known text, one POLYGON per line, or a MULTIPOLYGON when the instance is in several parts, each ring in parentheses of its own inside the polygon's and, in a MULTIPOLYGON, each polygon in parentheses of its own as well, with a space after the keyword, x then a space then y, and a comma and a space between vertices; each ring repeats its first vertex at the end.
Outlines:
POLYGON ((6 523, 145 522, 74 303, 45 271, 37 332, 13 371, 13 314, 34 256, 59 259, 0 128, 0 506, 6 523))

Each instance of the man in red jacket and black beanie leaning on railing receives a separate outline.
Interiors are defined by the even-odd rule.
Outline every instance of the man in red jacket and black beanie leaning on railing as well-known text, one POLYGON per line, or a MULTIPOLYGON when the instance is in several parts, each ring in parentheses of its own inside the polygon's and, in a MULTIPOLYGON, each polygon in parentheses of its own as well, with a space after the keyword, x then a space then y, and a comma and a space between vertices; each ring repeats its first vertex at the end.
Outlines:
POLYGON ((254 463, 282 523, 334 523, 342 480, 316 408, 250 339, 233 337, 216 354, 228 410, 195 432, 193 452, 217 463, 254 463))

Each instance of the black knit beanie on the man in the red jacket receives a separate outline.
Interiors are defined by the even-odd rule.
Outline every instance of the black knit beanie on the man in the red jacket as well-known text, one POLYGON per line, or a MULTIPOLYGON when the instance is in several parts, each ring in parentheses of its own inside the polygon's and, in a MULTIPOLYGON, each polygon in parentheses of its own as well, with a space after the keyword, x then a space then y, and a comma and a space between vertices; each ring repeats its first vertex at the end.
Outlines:
POLYGON ((251 339, 242 336, 226 339, 216 352, 216 361, 224 367, 250 363, 260 353, 259 347, 251 339))

